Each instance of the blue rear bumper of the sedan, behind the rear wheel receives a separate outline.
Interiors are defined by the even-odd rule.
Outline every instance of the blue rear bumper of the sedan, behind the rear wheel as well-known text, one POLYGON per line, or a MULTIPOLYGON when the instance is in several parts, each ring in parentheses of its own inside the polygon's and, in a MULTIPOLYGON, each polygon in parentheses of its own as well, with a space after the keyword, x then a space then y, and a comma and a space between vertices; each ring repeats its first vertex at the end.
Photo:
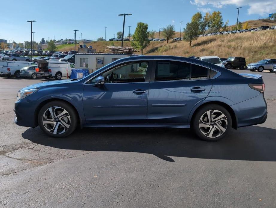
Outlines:
POLYGON ((236 114, 237 127, 261 124, 267 118, 267 104, 262 93, 249 100, 231 105, 231 108, 236 114))

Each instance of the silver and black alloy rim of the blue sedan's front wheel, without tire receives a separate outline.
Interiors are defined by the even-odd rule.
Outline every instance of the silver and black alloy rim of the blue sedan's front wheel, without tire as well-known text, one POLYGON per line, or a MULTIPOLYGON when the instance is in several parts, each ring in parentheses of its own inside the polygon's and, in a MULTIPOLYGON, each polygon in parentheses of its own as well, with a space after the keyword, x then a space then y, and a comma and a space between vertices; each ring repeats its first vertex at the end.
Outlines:
POLYGON ((48 132, 62 134, 69 129, 71 118, 64 108, 54 106, 43 113, 42 123, 48 132))

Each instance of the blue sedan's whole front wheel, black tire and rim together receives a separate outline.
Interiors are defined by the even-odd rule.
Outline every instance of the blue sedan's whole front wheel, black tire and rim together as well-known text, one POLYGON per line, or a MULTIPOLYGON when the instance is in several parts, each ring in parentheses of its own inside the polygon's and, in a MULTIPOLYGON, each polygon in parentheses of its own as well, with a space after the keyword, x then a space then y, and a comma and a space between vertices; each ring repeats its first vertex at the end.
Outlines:
POLYGON ((70 135, 77 127, 78 116, 66 102, 46 103, 39 111, 38 124, 51 137, 61 138, 70 135), (61 116, 59 117, 59 115, 61 116), (53 116, 53 117, 52 117, 53 116))

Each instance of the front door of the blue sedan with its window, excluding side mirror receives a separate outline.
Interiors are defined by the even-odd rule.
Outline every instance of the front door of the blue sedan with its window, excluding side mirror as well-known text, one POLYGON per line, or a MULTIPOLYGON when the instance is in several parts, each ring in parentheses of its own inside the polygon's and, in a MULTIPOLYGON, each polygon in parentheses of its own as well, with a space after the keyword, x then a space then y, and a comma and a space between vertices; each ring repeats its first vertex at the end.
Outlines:
POLYGON ((103 85, 95 86, 93 77, 84 87, 83 106, 87 123, 144 123, 150 64, 132 62, 111 68, 98 76, 103 85))

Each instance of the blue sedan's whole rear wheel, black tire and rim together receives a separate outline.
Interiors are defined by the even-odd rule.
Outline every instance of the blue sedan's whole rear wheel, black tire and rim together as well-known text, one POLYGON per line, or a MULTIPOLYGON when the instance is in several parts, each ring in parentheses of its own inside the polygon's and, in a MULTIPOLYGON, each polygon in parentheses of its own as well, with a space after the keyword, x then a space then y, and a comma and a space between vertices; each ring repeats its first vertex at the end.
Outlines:
POLYGON ((232 118, 230 113, 224 107, 217 104, 203 106, 196 112, 192 120, 192 128, 195 134, 205 141, 218 141, 222 139, 227 135, 231 126, 232 118), (208 119, 208 112, 210 113, 210 118, 212 117, 210 120, 208 119), (216 121, 216 118, 219 117, 221 118, 216 121))

